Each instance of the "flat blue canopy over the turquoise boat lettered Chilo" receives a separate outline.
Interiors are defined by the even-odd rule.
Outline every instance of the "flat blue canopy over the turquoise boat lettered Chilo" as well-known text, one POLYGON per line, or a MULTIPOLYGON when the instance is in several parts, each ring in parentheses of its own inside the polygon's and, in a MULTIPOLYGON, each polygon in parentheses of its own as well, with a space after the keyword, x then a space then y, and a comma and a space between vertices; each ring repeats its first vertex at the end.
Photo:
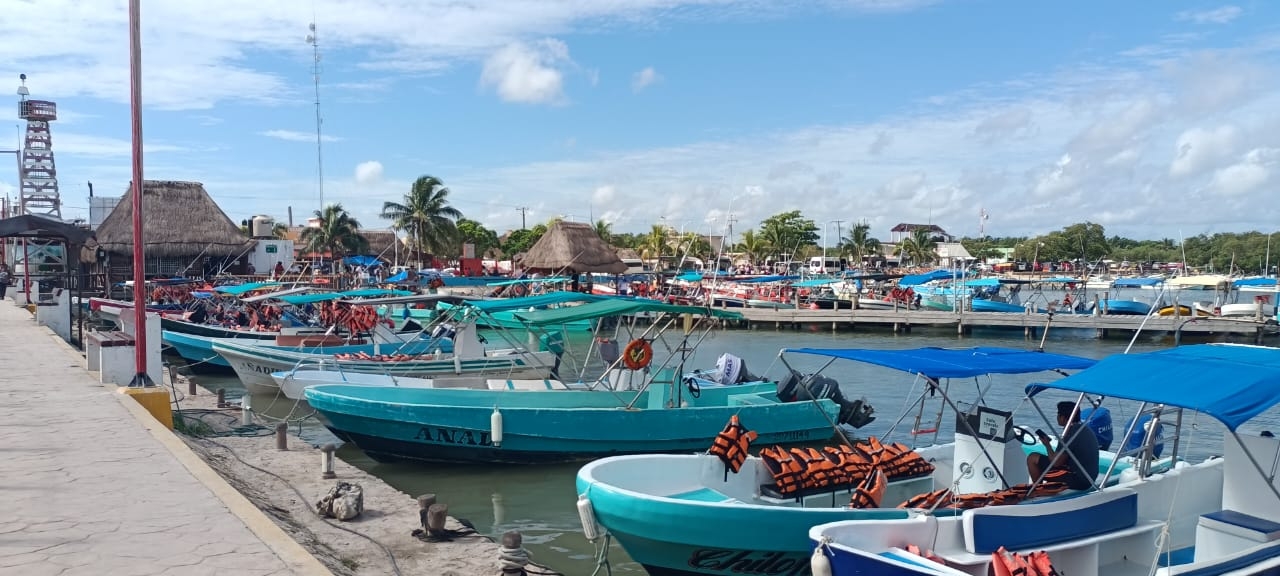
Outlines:
POLYGON ((874 364, 929 378, 970 378, 984 374, 1029 374, 1047 370, 1084 370, 1092 358, 1014 348, 785 348, 782 352, 827 356, 874 364))

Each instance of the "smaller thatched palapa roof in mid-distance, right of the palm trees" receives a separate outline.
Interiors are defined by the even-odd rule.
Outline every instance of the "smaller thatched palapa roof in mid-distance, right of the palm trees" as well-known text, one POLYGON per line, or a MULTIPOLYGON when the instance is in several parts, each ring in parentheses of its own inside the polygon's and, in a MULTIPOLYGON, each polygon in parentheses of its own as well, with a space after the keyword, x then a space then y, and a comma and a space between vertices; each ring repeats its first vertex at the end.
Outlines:
POLYGON ((622 274, 627 265, 590 224, 559 220, 520 259, 520 265, 538 270, 622 274))

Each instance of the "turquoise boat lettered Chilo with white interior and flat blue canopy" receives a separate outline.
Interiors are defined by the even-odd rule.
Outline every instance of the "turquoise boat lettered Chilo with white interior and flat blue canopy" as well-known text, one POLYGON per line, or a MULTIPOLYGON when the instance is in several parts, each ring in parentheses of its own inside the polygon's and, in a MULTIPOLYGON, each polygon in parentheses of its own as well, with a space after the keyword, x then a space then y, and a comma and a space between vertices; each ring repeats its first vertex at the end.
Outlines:
MULTIPOLYGON (((991 347, 799 348, 783 349, 780 355, 783 364, 787 355, 852 360, 918 375, 924 380, 919 399, 904 410, 904 416, 915 416, 915 408, 923 406, 927 397, 933 398, 931 392, 943 397, 942 404, 950 403, 946 399, 948 379, 972 381, 988 374, 1082 370, 1094 364, 1075 356, 991 347)), ((932 402, 938 403, 937 399, 932 402)), ((769 425, 768 419, 745 412, 740 421, 753 430, 769 425)), ((933 419, 929 421, 932 424, 933 419)), ((936 430, 927 433, 936 434, 936 430)), ((705 452, 713 438, 714 434, 704 438, 694 449, 705 452)), ((753 444, 769 443, 762 435, 753 444)), ((918 449, 916 453, 934 466, 933 471, 891 479, 883 509, 845 508, 855 488, 851 485, 783 495, 774 490, 773 476, 760 458, 748 457, 741 470, 732 472, 708 453, 618 456, 588 463, 577 474, 579 508, 580 512, 589 508, 591 512, 584 522, 595 524, 599 532, 609 534, 650 576, 808 575, 813 552, 809 527, 841 520, 906 518, 908 511, 893 508, 897 503, 933 490, 936 483, 952 484, 952 471, 963 468, 954 465, 961 462, 961 451, 955 445, 918 449)), ((1018 452, 1011 458, 1025 476, 1025 454, 1014 449, 1018 452)), ((983 479, 984 474, 977 476, 983 479)))

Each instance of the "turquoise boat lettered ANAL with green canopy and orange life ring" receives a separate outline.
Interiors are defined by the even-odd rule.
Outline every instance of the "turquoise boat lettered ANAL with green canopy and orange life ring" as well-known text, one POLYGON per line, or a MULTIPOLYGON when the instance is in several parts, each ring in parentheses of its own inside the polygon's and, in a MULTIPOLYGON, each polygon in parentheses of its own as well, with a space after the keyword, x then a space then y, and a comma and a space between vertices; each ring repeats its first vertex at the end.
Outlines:
MULTIPOLYGON (((698 315, 700 320, 739 317, 724 310, 630 298, 522 311, 516 316, 529 326, 558 326, 635 314, 655 316, 646 325, 650 330, 682 315, 698 315)), ((586 390, 563 384, 566 389, 553 390, 333 384, 308 387, 303 396, 334 434, 380 461, 534 463, 689 452, 705 448, 732 415, 759 422, 755 430, 762 442, 820 442, 832 434, 829 422, 847 412, 832 398, 783 402, 773 381, 714 385, 709 380, 673 378, 684 374, 682 362, 696 342, 689 335, 691 329, 680 332, 680 344, 667 361, 644 366, 649 375, 639 389, 605 388, 602 383, 607 376, 602 376, 590 384, 594 389, 586 390)), ((657 338, 660 334, 645 342, 657 338)), ((620 362, 614 360, 605 375, 618 372, 620 362)), ((645 375, 643 369, 625 371, 637 376, 635 380, 645 375)))

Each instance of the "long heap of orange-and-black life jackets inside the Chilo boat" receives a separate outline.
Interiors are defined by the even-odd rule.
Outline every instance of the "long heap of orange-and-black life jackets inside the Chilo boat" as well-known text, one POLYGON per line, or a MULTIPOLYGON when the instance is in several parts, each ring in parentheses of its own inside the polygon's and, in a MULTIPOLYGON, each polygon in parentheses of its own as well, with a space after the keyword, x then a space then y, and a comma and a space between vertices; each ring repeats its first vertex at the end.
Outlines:
POLYGON ((806 490, 841 490, 859 486, 879 471, 886 483, 933 472, 933 465, 905 444, 881 444, 876 438, 850 445, 817 448, 772 447, 760 460, 782 495, 806 490))

